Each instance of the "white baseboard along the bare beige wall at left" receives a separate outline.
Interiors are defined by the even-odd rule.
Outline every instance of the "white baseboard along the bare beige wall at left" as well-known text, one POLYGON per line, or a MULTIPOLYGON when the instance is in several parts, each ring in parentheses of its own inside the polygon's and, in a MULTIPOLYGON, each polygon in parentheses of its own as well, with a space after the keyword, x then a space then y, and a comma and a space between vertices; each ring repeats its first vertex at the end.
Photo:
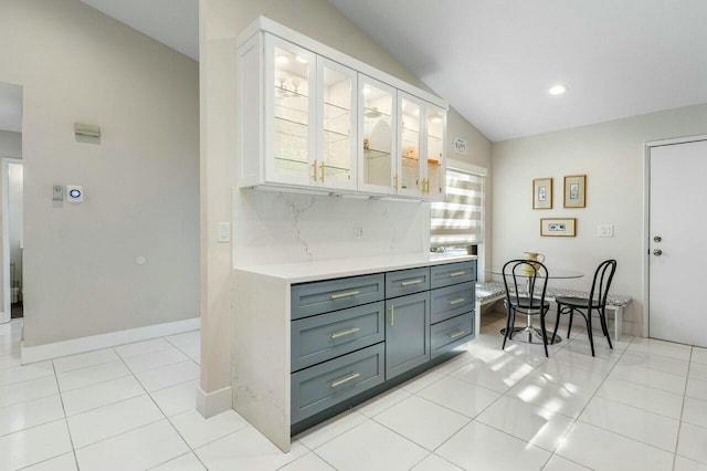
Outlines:
POLYGON ((110 348, 133 342, 163 337, 166 335, 181 334, 182 332, 196 331, 200 327, 201 318, 193 317, 184 321, 167 322, 165 324, 72 338, 71 341, 36 345, 34 347, 25 347, 23 344, 21 348, 22 365, 102 348, 110 348))

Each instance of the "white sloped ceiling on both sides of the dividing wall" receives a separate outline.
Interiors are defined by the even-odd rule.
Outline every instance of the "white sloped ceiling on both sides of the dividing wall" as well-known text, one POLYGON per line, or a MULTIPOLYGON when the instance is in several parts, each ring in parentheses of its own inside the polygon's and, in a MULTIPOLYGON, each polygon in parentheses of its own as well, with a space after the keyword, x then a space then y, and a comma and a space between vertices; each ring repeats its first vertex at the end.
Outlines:
MULTIPOLYGON (((81 1, 198 60, 197 0, 81 1)), ((492 140, 707 103, 705 0, 328 1, 492 140)))

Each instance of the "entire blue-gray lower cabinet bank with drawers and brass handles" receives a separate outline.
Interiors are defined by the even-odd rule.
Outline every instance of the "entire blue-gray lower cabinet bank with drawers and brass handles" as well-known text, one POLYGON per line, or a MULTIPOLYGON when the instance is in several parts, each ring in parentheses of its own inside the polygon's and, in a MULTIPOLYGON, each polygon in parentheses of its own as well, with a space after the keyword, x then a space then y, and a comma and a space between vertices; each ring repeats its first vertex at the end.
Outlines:
POLYGON ((293 428, 473 339, 475 279, 476 262, 464 261, 293 285, 293 428))

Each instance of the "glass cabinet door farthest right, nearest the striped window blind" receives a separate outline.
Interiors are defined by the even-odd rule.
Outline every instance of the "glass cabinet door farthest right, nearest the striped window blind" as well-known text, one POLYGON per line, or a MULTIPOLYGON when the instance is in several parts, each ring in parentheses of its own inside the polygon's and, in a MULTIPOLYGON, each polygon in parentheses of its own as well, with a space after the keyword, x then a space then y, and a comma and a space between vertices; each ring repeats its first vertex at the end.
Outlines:
POLYGON ((430 199, 442 199, 445 193, 445 140, 444 130, 446 112, 431 104, 425 104, 425 171, 422 192, 430 199))

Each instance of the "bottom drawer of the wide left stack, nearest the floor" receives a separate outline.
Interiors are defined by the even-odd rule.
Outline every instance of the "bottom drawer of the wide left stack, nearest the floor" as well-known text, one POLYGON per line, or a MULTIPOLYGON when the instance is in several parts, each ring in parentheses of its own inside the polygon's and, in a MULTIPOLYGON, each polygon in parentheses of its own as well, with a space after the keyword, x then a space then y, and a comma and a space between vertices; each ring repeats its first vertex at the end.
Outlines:
POLYGON ((292 375, 292 423, 383 383, 383 344, 292 375))

